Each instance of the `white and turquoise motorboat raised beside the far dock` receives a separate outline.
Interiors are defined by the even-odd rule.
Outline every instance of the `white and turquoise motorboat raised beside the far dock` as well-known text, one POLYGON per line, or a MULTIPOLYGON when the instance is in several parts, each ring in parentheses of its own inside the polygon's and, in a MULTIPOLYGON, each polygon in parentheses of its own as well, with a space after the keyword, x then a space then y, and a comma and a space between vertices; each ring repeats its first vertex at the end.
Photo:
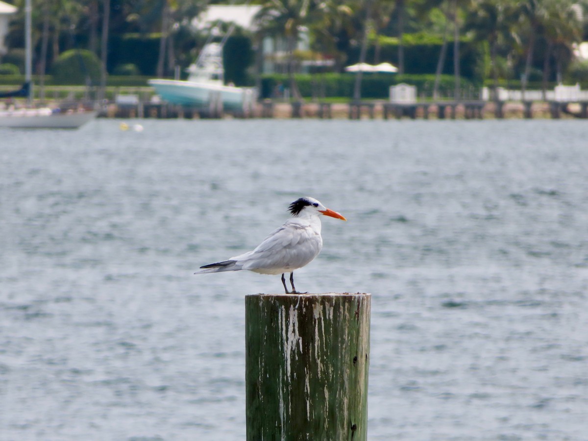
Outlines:
POLYGON ((148 83, 164 101, 193 108, 208 109, 220 102, 224 111, 246 112, 256 98, 253 88, 225 85, 222 44, 205 45, 188 74, 186 81, 150 79, 148 83))

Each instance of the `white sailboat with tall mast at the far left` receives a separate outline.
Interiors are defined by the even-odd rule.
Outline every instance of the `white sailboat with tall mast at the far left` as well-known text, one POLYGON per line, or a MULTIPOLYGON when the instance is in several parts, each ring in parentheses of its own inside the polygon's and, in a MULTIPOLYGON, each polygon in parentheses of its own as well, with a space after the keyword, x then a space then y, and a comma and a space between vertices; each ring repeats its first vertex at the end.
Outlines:
POLYGON ((0 110, 0 127, 36 129, 77 129, 96 117, 95 111, 62 112, 60 109, 32 108, 31 0, 25 2, 25 83, 16 91, 0 93, 0 98, 26 98, 26 108, 9 106, 0 110))

